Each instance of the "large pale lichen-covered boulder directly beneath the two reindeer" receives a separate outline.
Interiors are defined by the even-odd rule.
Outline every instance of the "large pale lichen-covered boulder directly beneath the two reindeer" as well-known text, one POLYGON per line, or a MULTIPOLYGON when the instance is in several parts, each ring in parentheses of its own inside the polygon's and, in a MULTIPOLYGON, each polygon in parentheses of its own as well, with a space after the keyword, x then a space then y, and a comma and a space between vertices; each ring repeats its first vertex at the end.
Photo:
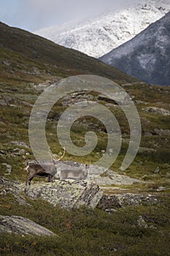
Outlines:
POLYGON ((59 205, 63 208, 79 208, 82 205, 95 208, 102 197, 102 191, 95 181, 39 182, 24 186, 23 192, 28 197, 40 197, 53 206, 59 205))

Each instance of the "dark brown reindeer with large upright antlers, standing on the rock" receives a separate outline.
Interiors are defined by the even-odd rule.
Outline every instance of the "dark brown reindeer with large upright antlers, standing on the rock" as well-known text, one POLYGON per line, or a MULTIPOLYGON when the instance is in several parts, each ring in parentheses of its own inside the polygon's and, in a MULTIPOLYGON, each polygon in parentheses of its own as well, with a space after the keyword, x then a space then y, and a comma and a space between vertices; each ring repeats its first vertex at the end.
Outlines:
MULTIPOLYGON (((50 149, 50 148, 49 148, 50 149)), ((66 150, 65 148, 63 148, 63 155, 55 160, 53 158, 53 156, 51 155, 51 158, 53 160, 53 163, 47 163, 47 164, 43 164, 43 165, 39 165, 39 164, 31 164, 31 165, 27 165, 26 170, 28 172, 28 178, 26 179, 26 185, 31 185, 31 180, 34 177, 47 177, 48 178, 48 182, 52 181, 53 176, 55 176, 56 174, 56 162, 60 161, 64 154, 65 154, 66 150)), ((50 153, 50 151, 49 151, 50 153)))

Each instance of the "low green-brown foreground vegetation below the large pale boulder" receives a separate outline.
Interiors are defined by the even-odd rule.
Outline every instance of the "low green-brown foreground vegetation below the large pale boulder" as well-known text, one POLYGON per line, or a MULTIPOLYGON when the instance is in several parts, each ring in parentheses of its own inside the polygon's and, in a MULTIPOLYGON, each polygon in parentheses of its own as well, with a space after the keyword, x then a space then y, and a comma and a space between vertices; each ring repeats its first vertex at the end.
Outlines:
POLYGON ((80 208, 66 210, 42 200, 16 206, 1 199, 0 214, 21 215, 49 228, 59 237, 0 235, 2 255, 169 255, 169 196, 155 206, 129 206, 113 214, 80 208), (143 217, 147 228, 137 223, 143 217))

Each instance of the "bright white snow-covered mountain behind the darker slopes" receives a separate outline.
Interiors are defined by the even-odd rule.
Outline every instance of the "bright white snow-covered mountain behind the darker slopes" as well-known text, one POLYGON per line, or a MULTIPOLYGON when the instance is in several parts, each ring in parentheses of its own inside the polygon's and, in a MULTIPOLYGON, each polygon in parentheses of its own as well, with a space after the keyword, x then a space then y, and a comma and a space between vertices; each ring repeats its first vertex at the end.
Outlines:
POLYGON ((143 0, 122 10, 109 10, 96 18, 71 21, 34 33, 98 58, 135 37, 169 10, 169 0, 143 0))

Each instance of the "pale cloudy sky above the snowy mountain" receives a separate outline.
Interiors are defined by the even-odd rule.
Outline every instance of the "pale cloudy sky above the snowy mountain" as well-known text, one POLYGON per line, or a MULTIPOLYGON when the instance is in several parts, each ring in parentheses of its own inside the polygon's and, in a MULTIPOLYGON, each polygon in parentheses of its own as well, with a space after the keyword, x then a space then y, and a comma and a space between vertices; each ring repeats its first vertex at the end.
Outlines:
POLYGON ((0 0, 0 21, 35 31, 105 10, 117 10, 136 1, 139 0, 0 0))

